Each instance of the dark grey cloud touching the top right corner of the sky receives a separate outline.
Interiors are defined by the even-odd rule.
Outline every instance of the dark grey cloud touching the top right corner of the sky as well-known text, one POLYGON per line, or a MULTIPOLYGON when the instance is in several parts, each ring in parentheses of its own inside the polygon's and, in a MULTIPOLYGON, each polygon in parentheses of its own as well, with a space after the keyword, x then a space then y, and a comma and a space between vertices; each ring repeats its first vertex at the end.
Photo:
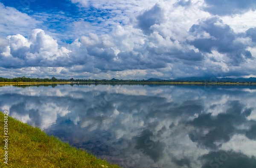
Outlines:
POLYGON ((255 0, 204 0, 205 10, 211 14, 230 15, 241 14, 256 9, 255 0))

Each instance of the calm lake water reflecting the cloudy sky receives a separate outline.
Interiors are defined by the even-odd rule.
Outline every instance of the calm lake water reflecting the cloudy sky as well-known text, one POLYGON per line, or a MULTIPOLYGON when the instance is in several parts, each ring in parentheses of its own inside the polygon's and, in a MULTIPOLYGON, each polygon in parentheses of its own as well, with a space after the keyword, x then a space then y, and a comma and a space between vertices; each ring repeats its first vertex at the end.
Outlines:
POLYGON ((0 110, 124 168, 256 168, 256 87, 0 87, 0 110))

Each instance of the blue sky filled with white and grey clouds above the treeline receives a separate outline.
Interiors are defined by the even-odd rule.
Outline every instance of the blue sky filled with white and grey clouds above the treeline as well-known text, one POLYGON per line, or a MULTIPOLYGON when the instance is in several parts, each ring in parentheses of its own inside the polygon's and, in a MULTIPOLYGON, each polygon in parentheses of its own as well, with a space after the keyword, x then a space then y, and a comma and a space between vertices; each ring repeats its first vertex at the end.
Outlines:
POLYGON ((0 0, 0 77, 256 77, 255 0, 0 0))

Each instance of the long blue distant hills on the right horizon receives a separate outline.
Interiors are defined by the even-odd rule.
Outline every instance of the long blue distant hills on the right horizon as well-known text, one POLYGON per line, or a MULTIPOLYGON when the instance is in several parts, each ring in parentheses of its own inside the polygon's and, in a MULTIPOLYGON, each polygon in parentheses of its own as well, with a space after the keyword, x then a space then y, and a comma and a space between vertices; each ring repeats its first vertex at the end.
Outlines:
POLYGON ((177 79, 158 79, 158 78, 149 78, 147 81, 212 81, 212 82, 256 82, 256 78, 216 78, 216 77, 186 77, 186 78, 177 78, 177 79))

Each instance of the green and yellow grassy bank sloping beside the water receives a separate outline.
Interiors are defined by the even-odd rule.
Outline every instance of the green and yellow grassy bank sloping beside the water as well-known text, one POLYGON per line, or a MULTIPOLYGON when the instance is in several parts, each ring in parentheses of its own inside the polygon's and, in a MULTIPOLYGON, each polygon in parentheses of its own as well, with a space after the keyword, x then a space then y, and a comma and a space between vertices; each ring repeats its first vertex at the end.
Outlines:
MULTIPOLYGON (((0 128, 4 136, 4 114, 0 112, 0 128)), ((71 147, 39 128, 8 117, 8 166, 11 168, 119 168, 105 160, 97 159, 84 150, 71 147)), ((5 167, 6 145, 0 142, 0 167, 5 167)))

